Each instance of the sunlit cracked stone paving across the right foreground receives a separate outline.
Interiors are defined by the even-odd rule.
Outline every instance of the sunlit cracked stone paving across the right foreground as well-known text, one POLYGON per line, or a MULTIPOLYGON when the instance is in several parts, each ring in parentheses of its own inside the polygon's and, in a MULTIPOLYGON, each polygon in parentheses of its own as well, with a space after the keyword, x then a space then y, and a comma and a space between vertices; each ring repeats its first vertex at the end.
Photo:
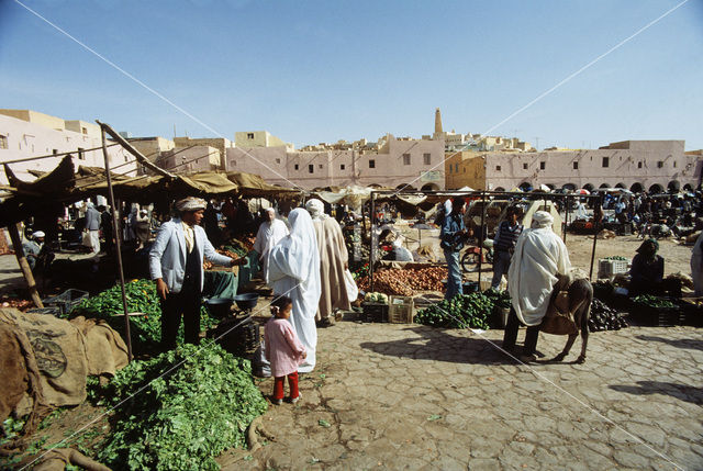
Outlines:
MULTIPOLYGON (((703 469, 701 329, 595 333, 584 365, 534 367, 487 340, 502 330, 342 322, 319 333, 301 402, 271 406, 274 439, 222 456, 223 469, 703 469)), ((538 349, 551 358, 565 339, 542 335, 538 349)))

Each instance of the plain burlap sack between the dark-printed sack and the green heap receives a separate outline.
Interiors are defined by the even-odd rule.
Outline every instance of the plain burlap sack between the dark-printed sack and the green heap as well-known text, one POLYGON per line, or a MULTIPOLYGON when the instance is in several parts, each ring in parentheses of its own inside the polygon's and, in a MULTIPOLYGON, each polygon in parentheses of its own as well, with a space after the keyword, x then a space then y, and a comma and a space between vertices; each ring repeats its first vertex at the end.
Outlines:
POLYGON ((108 323, 82 316, 72 318, 70 323, 86 337, 88 374, 114 375, 118 370, 127 366, 127 346, 108 323))

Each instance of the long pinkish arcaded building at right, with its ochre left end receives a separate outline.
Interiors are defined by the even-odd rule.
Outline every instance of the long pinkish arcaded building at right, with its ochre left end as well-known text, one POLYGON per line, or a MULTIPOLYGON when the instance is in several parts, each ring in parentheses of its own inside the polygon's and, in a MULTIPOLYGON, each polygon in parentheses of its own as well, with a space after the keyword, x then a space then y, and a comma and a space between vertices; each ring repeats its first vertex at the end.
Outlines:
POLYGON ((445 175, 449 189, 695 189, 703 156, 683 149, 683 141, 624 141, 599 149, 447 153, 445 175))

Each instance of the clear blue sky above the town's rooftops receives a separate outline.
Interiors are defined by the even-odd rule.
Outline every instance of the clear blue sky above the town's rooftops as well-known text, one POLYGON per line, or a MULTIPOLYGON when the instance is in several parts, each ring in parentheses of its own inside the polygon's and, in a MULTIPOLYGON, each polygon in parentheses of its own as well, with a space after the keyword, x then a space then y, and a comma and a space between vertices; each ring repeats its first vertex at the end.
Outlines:
MULTIPOLYGON (((446 131, 483 133, 679 3, 26 0, 210 130, 0 0, 0 108, 135 136, 267 130, 300 147, 420 137, 438 106, 446 131)), ((703 148, 701 83, 703 0, 689 0, 490 134, 703 148)))

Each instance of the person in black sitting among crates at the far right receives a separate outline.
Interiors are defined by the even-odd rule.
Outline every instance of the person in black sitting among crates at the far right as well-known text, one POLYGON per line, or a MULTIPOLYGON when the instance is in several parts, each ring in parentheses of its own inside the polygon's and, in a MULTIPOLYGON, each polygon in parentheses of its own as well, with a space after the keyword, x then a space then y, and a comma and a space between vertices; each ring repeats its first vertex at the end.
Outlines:
MULTIPOLYGON (((629 270, 632 280, 629 282, 629 295, 639 294, 661 295, 669 291, 677 294, 677 287, 669 280, 663 279, 663 258, 657 255, 659 243, 654 238, 648 238, 641 243, 637 249, 637 255, 633 258, 633 266, 629 270)), ((676 281, 676 280, 673 280, 676 281)), ((680 287, 678 289, 680 291, 680 287)))

